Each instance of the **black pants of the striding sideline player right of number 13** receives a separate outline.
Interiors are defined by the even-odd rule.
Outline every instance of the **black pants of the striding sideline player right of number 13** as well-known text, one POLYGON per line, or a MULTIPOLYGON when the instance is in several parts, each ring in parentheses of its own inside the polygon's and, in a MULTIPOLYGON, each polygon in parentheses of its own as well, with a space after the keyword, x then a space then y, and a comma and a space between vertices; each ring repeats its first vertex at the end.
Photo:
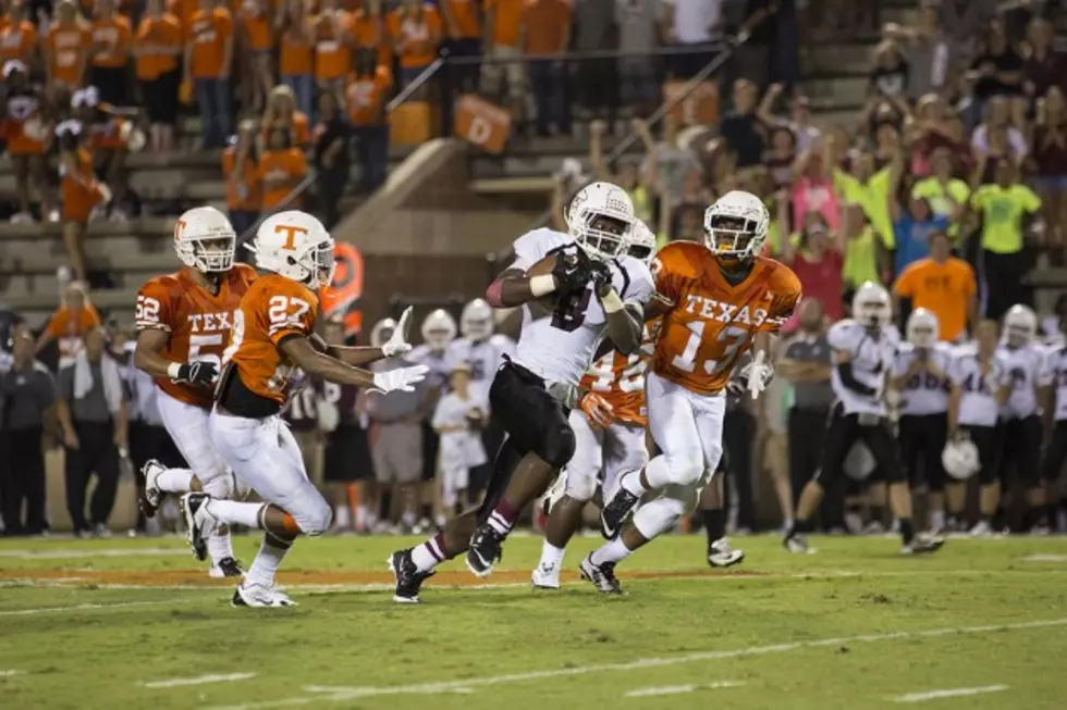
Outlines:
POLYGON ((838 403, 830 414, 822 468, 815 475, 823 488, 830 488, 844 475, 845 458, 857 441, 863 441, 871 450, 878 466, 874 473, 880 479, 890 484, 905 481, 900 451, 888 421, 881 418, 876 423, 860 424, 859 414, 846 414, 838 403))

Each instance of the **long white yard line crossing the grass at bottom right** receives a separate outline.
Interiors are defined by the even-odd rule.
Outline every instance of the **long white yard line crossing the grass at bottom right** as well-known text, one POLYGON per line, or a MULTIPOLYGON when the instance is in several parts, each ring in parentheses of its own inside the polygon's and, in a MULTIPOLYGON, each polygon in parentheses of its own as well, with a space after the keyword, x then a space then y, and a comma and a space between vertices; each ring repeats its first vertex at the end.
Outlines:
POLYGON ((284 708, 302 705, 316 705, 320 702, 344 702, 357 698, 368 698, 387 695, 438 695, 441 693, 452 693, 457 688, 475 688, 479 686, 505 685, 508 683, 526 683, 528 681, 543 681, 547 678, 566 677, 572 675, 588 675, 590 673, 609 673, 615 671, 640 671, 653 668, 667 668, 682 665, 697 661, 716 661, 731 658, 743 658, 748 656, 766 656, 770 653, 783 653, 806 648, 824 648, 826 646, 842 646, 845 644, 868 643, 873 644, 885 640, 900 640, 904 638, 936 638, 939 636, 953 636, 957 634, 989 634, 993 632, 1018 631, 1023 628, 1046 628, 1048 626, 1067 625, 1067 618, 1047 619, 1044 621, 1027 621, 1014 624, 999 624, 988 626, 959 626, 956 628, 932 628, 929 631, 900 631, 892 634, 866 634, 862 636, 838 636, 836 638, 822 638, 818 640, 790 642, 787 644, 775 644, 772 646, 749 646, 747 648, 735 648, 722 651, 701 651, 688 653, 686 656, 675 656, 673 658, 642 658, 628 663, 601 663, 596 665, 578 665, 574 668, 557 668, 544 671, 531 671, 528 673, 510 673, 506 675, 492 675, 482 678, 463 678, 459 681, 441 681, 439 683, 418 683, 414 685, 387 685, 387 686, 366 686, 366 687, 339 687, 333 688, 332 694, 316 694, 294 698, 281 698, 278 700, 265 700, 262 702, 249 702, 235 706, 210 706, 205 710, 253 710, 254 708, 284 708))

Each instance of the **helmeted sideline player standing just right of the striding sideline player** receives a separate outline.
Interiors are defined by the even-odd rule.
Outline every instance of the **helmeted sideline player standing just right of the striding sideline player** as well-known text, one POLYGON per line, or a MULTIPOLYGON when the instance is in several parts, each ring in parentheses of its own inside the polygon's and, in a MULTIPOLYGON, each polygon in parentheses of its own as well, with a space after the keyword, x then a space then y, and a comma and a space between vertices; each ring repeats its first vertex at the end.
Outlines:
POLYGON ((897 440, 908 482, 919 470, 929 490, 930 530, 945 530, 945 469, 941 454, 948 440, 948 362, 952 351, 939 342, 937 316, 924 308, 911 311, 907 342, 893 360, 893 388, 900 394, 897 440))

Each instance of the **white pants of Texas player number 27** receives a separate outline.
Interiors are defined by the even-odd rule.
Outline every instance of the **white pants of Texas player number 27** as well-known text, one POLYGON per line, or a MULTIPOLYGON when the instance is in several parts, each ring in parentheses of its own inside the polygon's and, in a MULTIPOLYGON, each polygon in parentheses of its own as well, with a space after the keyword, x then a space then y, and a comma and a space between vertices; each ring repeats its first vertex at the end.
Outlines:
POLYGON ((278 415, 246 419, 211 412, 216 450, 237 478, 293 516, 305 535, 330 527, 333 511, 304 470, 296 438, 278 415))

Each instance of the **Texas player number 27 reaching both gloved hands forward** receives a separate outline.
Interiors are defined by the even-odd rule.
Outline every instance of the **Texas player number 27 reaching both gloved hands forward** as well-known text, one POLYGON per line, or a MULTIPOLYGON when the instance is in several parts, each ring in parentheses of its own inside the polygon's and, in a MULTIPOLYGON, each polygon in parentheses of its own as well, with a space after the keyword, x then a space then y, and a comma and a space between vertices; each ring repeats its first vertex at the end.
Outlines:
MULTIPOLYGON (((297 535, 330 527, 330 503, 308 481, 296 439, 282 423, 286 384, 294 369, 339 385, 380 393, 410 391, 425 365, 371 374, 356 365, 379 359, 376 348, 330 346, 317 336, 316 290, 333 276, 333 238, 322 223, 299 211, 271 215, 250 246, 257 278, 233 315, 230 346, 222 356, 211 443, 234 474, 266 501, 238 502, 206 493, 182 497, 188 540, 203 559, 205 538, 220 525, 265 531, 263 541, 232 603, 285 607, 293 601, 274 588, 274 573, 297 535)), ((400 331, 401 328, 397 328, 400 331)), ((409 350, 400 348, 396 354, 409 350)))

